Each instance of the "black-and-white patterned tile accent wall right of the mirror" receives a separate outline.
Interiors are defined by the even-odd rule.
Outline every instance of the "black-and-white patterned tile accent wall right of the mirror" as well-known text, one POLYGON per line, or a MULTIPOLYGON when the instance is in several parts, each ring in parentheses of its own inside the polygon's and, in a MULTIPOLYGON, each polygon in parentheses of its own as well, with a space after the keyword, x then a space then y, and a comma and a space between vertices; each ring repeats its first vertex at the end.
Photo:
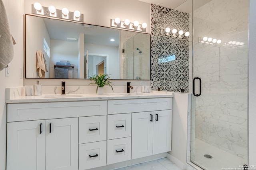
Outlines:
MULTIPOLYGON (((188 92, 189 41, 164 35, 170 27, 189 31, 189 14, 151 4, 151 86, 153 90, 188 92), (160 59, 175 55, 175 60, 160 59), (163 60, 162 60, 163 61, 163 60)), ((192 35, 192 33, 190 33, 192 35)))

